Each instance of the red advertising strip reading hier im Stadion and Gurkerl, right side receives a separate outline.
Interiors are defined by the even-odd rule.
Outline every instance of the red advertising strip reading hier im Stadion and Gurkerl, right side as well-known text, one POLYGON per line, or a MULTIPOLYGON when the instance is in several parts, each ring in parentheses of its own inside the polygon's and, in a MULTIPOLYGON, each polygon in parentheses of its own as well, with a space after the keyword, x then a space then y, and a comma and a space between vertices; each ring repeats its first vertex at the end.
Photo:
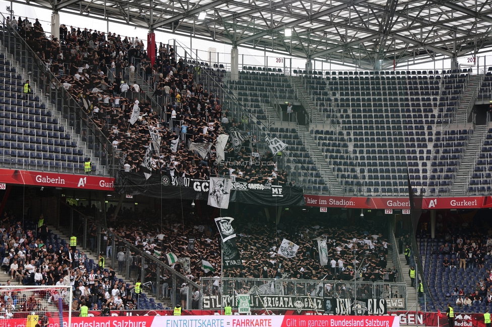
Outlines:
MULTIPOLYGON (((354 209, 410 209, 408 198, 367 198, 304 194, 306 206, 354 209)), ((492 208, 492 196, 426 197, 422 209, 492 208)), ((322 211, 323 212, 323 211, 322 211)))

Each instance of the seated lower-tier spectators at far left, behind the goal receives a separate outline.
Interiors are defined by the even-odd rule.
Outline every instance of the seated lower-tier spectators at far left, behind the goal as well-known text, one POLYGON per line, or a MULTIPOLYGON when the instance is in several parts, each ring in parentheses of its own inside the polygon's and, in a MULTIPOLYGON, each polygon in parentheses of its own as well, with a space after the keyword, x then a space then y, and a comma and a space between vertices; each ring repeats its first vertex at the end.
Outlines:
MULTIPOLYGON (((41 306, 45 309, 49 303, 56 307, 59 297, 73 310, 79 310, 83 305, 94 310, 136 308, 130 288, 115 277, 114 270, 90 267, 87 256, 83 251, 74 249, 76 247, 64 247, 63 243, 59 248, 53 247, 44 223, 38 228, 24 229, 12 213, 5 212, 2 218, 0 253, 2 270, 10 275, 7 285, 14 286, 14 282, 35 286, 71 285, 74 298, 70 304, 65 291, 36 291, 33 294, 34 304, 27 305, 18 301, 18 293, 6 291, 1 307, 4 315, 15 311, 37 311, 41 310, 41 306)), ((31 300, 29 297, 27 301, 31 300)))

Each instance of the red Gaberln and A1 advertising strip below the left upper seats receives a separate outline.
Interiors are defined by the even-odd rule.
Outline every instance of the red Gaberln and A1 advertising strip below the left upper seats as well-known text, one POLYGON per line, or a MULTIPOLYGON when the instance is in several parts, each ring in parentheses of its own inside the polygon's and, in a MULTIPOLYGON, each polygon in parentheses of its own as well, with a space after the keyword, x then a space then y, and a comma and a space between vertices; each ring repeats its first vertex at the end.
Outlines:
POLYGON ((114 178, 92 175, 0 169, 0 183, 114 191, 114 178))

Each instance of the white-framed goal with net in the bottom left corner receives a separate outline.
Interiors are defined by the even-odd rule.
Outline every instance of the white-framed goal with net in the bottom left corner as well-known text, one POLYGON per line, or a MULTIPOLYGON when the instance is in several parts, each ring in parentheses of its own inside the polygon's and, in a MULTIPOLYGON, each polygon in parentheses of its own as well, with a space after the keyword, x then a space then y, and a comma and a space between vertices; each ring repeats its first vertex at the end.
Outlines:
POLYGON ((72 286, 0 286, 0 327, 68 327, 72 286))

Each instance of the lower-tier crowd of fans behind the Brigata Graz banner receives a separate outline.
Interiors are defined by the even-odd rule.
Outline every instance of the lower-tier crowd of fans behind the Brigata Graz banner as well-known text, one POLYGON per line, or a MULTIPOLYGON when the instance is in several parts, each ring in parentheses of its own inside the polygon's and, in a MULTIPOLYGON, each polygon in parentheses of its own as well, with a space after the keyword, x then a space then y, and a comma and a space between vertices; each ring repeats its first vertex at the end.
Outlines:
MULTIPOLYGON (((171 210, 163 218, 164 223, 159 225, 155 223, 155 213, 124 209, 114 218, 112 209, 110 207, 108 211, 111 233, 142 251, 160 257, 163 262, 169 253, 177 258, 190 258, 191 272, 183 271, 180 265, 174 268, 195 282, 200 283, 202 277, 220 275, 220 236, 212 215, 208 221, 205 217, 194 221, 191 214, 189 220, 192 223, 183 226, 180 215, 171 210), (154 216, 155 219, 141 218, 154 216), (188 247, 190 238, 195 240, 193 248, 188 247), (210 262, 216 271, 206 274, 202 269, 202 259, 210 262)), ((224 277, 348 281, 354 279, 355 264, 357 269, 360 268, 356 276, 358 280, 396 281, 398 272, 394 267, 387 267, 390 244, 375 231, 376 227, 360 229, 336 223, 328 227, 321 222, 306 223, 302 219, 277 226, 263 218, 258 218, 261 223, 240 216, 234 220, 232 227, 237 235, 235 243, 242 265, 225 269, 224 277), (299 246, 292 259, 278 255, 283 238, 299 246), (318 240, 326 240, 327 243, 328 262, 325 266, 320 264, 318 240)), ((122 245, 116 243, 116 248, 122 245)), ((104 248, 101 250, 105 251, 104 248)), ((152 268, 149 265, 147 273, 152 273, 152 268)))

